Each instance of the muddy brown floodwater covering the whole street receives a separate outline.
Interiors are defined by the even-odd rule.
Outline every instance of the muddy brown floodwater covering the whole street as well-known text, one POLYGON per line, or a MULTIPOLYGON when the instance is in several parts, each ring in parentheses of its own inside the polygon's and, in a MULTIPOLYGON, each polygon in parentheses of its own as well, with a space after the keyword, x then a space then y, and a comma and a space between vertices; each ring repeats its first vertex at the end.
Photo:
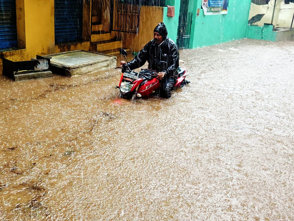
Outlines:
POLYGON ((1 75, 0 220, 294 220, 294 43, 180 59, 169 100, 118 98, 120 70, 1 75))

